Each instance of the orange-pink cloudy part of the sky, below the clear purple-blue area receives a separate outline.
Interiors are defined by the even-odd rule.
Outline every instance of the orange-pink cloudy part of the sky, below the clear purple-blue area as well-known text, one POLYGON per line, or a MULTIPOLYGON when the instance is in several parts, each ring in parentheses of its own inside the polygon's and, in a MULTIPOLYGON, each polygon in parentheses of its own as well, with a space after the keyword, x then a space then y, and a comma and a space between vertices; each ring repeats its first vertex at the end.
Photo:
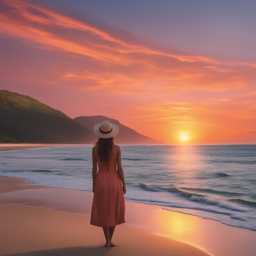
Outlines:
POLYGON ((256 143, 256 64, 193 55, 25 1, 0 1, 1 89, 176 144, 256 143))

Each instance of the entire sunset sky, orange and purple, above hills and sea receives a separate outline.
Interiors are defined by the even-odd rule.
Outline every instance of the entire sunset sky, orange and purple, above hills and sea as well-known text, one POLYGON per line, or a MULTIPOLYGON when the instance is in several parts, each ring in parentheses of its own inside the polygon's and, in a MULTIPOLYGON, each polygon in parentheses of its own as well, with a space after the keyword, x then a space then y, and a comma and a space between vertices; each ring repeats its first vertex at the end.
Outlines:
POLYGON ((170 144, 256 143, 255 5, 0 0, 0 89, 170 144))

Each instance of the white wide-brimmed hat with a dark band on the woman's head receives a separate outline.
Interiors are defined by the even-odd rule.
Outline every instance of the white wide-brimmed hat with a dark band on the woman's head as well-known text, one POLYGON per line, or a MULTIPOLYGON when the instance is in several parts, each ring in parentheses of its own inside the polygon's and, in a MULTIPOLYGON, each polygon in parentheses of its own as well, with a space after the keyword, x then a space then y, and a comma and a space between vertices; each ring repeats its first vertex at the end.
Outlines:
POLYGON ((95 135, 102 139, 115 137, 119 132, 119 127, 109 121, 103 121, 101 124, 96 124, 93 127, 95 135))

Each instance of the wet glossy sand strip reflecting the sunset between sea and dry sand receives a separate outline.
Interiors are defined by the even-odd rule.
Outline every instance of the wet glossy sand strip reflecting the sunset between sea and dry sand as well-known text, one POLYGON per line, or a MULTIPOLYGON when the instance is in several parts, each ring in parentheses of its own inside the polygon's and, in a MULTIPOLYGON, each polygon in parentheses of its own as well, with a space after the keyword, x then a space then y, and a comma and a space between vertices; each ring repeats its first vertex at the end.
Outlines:
MULTIPOLYGON (((61 211, 84 216, 89 221, 92 197, 93 193, 89 191, 40 186, 29 183, 26 179, 0 176, 1 205, 14 204, 22 207, 61 211)), ((13 211, 10 210, 10 212, 13 214, 13 211)), ((238 256, 245 253, 250 256, 255 255, 256 252, 253 243, 255 231, 227 226, 215 220, 203 219, 185 213, 163 211, 162 207, 152 204, 126 201, 126 223, 118 225, 117 229, 122 229, 123 226, 149 231, 148 233, 152 235, 160 235, 159 237, 171 241, 180 241, 204 250, 204 253, 208 253, 206 255, 238 256), (218 246, 216 246, 217 244, 218 246)), ((101 237, 101 232, 99 232, 99 236, 101 237)), ((103 238, 101 241, 104 241, 103 238)))

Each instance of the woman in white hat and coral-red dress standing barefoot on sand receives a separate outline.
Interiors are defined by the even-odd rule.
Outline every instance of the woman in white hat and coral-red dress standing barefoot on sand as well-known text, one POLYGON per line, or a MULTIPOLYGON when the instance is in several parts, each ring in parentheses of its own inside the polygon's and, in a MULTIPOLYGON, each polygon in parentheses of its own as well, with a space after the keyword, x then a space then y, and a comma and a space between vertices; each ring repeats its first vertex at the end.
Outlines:
POLYGON ((114 144, 119 127, 103 121, 93 128, 99 137, 92 148, 93 202, 91 225, 103 227, 106 247, 115 246, 112 236, 116 225, 125 222, 126 185, 121 164, 121 149, 114 144), (97 164, 99 171, 97 172, 97 164))

